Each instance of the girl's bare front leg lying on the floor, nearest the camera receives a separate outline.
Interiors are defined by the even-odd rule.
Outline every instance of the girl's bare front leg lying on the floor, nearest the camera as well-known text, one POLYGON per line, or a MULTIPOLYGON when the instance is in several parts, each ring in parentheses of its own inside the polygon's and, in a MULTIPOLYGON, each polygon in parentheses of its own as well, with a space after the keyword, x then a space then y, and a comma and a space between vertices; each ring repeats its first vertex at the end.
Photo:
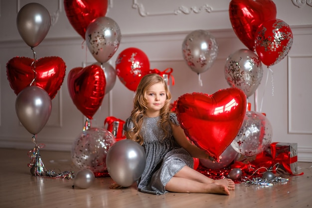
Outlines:
POLYGON ((207 193, 230 195, 228 188, 222 184, 205 184, 179 177, 172 177, 172 179, 166 184, 165 189, 169 192, 178 193, 207 193))

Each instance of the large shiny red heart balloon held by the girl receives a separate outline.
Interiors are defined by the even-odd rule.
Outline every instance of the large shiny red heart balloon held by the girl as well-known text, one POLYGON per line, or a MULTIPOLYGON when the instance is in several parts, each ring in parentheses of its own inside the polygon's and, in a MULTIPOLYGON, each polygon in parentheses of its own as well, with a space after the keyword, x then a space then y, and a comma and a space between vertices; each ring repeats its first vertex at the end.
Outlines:
POLYGON ((212 95, 184 94, 177 99, 175 110, 186 136, 218 161, 237 136, 246 106, 245 93, 238 88, 228 88, 212 95))

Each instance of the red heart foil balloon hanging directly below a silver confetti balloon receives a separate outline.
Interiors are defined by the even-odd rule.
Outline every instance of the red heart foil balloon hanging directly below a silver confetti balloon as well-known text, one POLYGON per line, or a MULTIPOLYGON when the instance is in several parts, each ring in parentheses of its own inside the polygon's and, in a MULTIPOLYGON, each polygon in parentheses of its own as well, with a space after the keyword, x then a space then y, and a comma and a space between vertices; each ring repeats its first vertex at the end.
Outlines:
POLYGON ((83 115, 92 119, 105 95, 106 80, 103 69, 96 64, 73 68, 68 73, 67 85, 75 106, 83 115))

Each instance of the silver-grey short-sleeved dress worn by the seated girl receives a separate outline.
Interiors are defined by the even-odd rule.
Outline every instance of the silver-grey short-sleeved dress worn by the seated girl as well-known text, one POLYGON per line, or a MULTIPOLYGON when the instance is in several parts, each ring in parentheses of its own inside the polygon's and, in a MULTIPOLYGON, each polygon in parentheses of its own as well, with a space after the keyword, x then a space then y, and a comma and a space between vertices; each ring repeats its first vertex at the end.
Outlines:
MULTIPOLYGON (((179 125, 174 113, 170 114, 170 121, 179 125)), ((157 124, 159 117, 145 117, 141 135, 144 138, 143 147, 147 156, 147 163, 142 177, 137 181, 138 190, 150 194, 166 193, 165 185, 185 165, 193 168, 193 158, 178 146, 173 136, 163 139, 163 131, 157 124)), ((129 117, 124 126, 125 131, 133 128, 129 117)), ((172 135, 171 128, 169 129, 172 135)))

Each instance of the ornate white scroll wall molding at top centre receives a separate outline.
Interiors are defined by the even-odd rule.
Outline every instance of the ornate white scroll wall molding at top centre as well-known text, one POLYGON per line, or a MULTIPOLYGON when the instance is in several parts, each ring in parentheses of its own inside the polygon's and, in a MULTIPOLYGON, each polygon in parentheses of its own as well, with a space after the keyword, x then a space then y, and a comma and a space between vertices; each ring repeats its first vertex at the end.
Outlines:
POLYGON ((220 11, 228 11, 228 9, 213 9, 210 5, 205 4, 202 6, 191 6, 186 7, 183 5, 178 6, 176 9, 173 9, 173 11, 165 11, 165 12, 156 12, 152 13, 149 11, 146 11, 145 6, 143 3, 140 3, 138 0, 133 0, 132 8, 138 9, 138 12, 141 16, 160 16, 160 15, 177 15, 177 14, 190 14, 190 13, 200 13, 202 11, 206 11, 208 13, 210 12, 220 12, 220 11))

